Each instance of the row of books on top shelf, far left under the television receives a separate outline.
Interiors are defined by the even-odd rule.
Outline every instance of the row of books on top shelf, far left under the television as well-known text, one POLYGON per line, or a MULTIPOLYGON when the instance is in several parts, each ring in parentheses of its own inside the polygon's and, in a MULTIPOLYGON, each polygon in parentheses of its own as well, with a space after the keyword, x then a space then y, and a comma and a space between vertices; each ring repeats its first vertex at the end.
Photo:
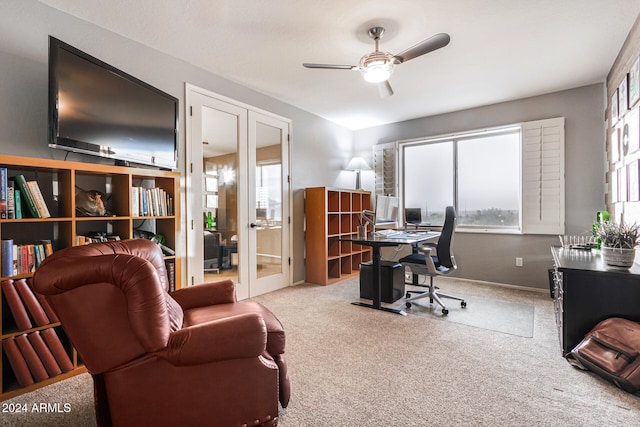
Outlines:
POLYGON ((51 217, 38 181, 27 181, 24 175, 9 177, 7 168, 0 167, 0 219, 28 216, 51 217))

